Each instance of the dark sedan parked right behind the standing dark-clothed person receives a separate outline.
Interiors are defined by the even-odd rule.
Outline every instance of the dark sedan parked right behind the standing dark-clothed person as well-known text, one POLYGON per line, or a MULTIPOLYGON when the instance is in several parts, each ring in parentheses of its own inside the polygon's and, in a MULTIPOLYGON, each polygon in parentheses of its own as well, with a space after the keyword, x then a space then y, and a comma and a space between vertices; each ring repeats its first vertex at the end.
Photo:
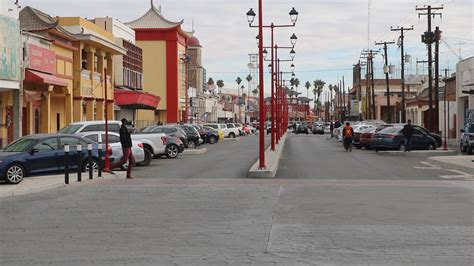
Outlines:
MULTIPOLYGON (((372 137, 371 147, 375 151, 379 150, 400 150, 405 151, 405 137, 402 133, 403 125, 387 126, 372 137)), ((412 150, 435 150, 437 148, 436 139, 430 134, 426 134, 415 128, 412 136, 412 150)))

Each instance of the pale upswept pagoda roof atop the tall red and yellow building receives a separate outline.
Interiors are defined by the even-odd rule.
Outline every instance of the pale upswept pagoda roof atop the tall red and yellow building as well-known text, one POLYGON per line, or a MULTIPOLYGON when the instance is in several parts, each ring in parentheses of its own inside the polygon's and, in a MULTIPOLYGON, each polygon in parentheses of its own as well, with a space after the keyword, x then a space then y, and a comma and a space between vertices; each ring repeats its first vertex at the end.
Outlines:
POLYGON ((143 16, 136 20, 125 23, 132 29, 172 29, 183 24, 180 22, 169 21, 161 14, 161 6, 156 7, 151 0, 151 7, 143 16))

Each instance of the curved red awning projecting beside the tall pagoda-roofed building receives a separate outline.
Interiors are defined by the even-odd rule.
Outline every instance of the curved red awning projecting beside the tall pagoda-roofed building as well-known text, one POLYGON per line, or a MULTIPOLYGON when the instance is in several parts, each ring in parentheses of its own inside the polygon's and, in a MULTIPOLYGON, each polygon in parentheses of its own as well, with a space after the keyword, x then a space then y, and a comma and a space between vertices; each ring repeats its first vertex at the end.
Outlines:
POLYGON ((115 103, 120 107, 131 109, 156 110, 161 98, 150 93, 115 89, 115 103))

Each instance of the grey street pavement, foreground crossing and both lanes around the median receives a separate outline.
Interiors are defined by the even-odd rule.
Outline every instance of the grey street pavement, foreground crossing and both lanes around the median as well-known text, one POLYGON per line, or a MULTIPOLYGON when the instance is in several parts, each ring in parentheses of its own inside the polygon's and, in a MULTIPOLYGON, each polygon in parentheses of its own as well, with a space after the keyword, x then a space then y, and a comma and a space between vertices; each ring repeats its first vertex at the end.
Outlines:
POLYGON ((0 264, 472 265, 472 181, 292 134, 277 178, 249 179, 257 143, 2 199, 0 264))

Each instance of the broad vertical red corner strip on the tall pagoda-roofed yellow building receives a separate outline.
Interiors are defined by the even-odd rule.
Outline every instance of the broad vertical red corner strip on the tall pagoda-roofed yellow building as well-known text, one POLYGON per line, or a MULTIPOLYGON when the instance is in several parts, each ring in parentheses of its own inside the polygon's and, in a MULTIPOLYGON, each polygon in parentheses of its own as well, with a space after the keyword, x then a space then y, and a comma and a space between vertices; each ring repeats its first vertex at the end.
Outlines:
POLYGON ((178 123, 178 44, 166 42, 166 121, 178 123))

